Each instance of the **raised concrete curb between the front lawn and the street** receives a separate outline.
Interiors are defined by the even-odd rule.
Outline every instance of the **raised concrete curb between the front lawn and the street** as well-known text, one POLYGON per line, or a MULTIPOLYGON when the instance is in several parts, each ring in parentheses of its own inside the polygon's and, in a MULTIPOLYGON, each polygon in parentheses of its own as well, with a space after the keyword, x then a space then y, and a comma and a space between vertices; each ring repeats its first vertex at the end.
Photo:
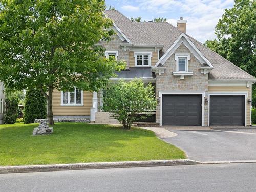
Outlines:
POLYGON ((25 172, 49 172, 56 170, 85 170, 103 168, 128 168, 128 167, 152 167, 152 166, 175 166, 175 165, 197 165, 199 161, 190 159, 180 160, 153 160, 153 161, 120 161, 104 163, 75 163, 75 164, 53 164, 53 165, 24 165, 24 166, 0 166, 2 173, 25 173, 25 172))

